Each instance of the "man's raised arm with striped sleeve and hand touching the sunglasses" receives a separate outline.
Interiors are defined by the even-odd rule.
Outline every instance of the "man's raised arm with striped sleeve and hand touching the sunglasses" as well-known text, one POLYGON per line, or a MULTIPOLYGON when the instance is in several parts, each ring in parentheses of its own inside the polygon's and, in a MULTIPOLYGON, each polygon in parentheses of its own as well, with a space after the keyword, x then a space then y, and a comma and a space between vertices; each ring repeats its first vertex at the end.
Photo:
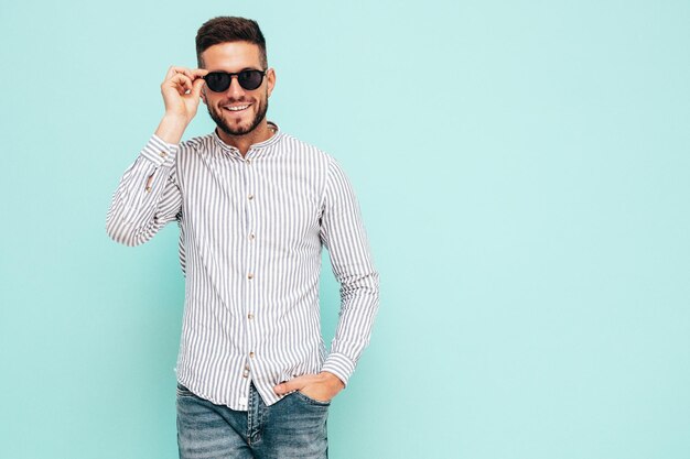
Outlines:
POLYGON ((184 130, 196 114, 203 69, 170 67, 161 84, 165 114, 112 197, 106 231, 117 242, 138 245, 150 240, 182 208, 175 181, 175 155, 184 130))

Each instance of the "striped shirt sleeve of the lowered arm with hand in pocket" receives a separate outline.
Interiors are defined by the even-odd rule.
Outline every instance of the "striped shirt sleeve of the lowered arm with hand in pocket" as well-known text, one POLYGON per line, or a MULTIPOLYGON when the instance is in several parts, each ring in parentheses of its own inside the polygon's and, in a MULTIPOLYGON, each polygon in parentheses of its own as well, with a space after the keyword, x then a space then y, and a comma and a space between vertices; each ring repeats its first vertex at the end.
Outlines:
POLYGON ((347 384, 369 343, 378 309, 379 282, 359 205, 345 173, 333 159, 330 159, 320 236, 341 284, 339 320, 322 371, 347 384))

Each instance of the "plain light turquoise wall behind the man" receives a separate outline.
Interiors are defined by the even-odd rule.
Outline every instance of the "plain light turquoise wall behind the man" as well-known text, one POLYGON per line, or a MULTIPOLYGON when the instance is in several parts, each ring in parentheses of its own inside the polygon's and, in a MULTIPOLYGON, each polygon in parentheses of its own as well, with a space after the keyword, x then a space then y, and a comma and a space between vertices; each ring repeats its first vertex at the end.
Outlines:
POLYGON ((381 273, 332 458, 690 457, 690 3, 123 0, 0 6, 2 458, 176 455, 177 229, 105 215, 220 14, 381 273))

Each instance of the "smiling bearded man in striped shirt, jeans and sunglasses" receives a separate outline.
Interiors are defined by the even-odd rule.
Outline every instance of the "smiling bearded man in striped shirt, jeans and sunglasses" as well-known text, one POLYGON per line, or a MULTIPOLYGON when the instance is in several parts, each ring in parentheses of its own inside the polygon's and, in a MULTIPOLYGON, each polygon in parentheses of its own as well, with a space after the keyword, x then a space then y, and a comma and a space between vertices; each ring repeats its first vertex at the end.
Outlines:
POLYGON ((198 67, 171 67, 165 113, 107 217, 127 245, 180 226, 181 458, 325 458, 331 400, 369 341, 378 274, 352 187, 330 155, 267 121, 276 72, 258 24, 215 18, 198 67), (200 98, 217 129, 180 143, 200 98), (321 248, 341 283, 331 352, 320 331, 321 248))

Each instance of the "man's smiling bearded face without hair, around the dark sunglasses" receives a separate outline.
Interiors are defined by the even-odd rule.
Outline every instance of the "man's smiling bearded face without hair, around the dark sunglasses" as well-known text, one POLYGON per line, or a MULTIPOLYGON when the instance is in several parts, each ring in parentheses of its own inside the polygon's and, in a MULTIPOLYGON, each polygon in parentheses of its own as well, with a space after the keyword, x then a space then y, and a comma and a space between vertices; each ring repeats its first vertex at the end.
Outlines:
MULTIPOLYGON (((237 73, 247 69, 263 70, 259 46, 249 42, 220 43, 202 53, 208 72, 237 73)), ((230 87, 214 92, 206 85, 202 100, 218 128, 228 135, 244 135, 254 131, 266 117, 268 98, 276 84, 276 74, 269 69, 257 89, 247 90, 233 77, 230 87)))

